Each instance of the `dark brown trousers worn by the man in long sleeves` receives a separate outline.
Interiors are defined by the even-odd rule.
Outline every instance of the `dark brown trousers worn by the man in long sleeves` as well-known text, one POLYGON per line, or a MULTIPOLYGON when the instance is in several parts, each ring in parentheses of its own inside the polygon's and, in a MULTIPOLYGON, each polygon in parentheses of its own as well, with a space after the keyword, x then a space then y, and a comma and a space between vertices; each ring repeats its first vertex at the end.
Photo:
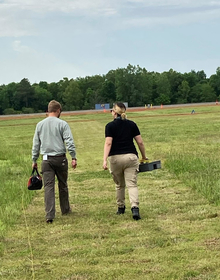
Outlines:
POLYGON ((62 214, 69 213, 69 192, 67 185, 68 160, 66 157, 48 157, 42 161, 44 201, 46 219, 55 218, 55 176, 58 180, 59 201, 62 214))

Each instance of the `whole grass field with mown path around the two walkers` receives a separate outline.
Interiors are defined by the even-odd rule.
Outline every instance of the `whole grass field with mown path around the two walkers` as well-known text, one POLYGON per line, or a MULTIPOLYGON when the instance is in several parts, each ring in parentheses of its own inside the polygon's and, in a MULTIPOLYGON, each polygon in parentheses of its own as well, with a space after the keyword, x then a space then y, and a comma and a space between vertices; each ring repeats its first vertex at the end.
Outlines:
POLYGON ((140 221, 132 219, 128 196, 126 213, 115 215, 114 183, 102 170, 111 114, 63 114, 78 167, 69 168, 73 213, 61 216, 56 197, 52 225, 45 223, 43 189, 26 187, 42 117, 0 119, 0 279, 220 279, 220 108, 194 109, 128 112, 149 159, 162 162, 138 175, 140 221))

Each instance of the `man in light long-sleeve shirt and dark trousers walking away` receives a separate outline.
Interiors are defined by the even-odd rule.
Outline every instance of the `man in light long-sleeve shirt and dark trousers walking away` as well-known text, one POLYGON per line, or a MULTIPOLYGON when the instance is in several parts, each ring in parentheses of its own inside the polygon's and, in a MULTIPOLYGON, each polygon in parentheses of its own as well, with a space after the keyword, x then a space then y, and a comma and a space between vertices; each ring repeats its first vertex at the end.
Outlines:
POLYGON ((37 124, 33 137, 32 168, 37 168, 39 154, 43 156, 41 168, 47 223, 52 223, 55 218, 55 176, 58 180, 61 213, 65 215, 71 212, 66 149, 72 157, 72 168, 77 166, 74 139, 68 123, 60 119, 61 111, 59 102, 50 101, 47 118, 37 124))

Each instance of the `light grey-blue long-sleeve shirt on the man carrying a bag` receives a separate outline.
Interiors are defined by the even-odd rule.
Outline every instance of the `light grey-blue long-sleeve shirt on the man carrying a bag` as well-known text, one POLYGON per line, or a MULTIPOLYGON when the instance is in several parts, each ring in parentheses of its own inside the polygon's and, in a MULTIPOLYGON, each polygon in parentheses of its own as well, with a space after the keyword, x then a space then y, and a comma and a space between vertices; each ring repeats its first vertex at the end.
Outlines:
POLYGON ((66 149, 72 158, 76 158, 74 139, 67 122, 57 117, 47 117, 37 124, 32 146, 33 162, 37 161, 40 154, 62 155, 66 149))

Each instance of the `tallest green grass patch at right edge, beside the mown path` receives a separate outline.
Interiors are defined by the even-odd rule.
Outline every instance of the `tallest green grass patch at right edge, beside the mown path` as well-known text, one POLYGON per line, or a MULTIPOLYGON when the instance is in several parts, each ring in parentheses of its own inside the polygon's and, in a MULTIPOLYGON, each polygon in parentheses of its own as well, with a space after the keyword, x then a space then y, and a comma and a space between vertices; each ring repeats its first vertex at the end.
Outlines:
POLYGON ((172 151, 166 159, 165 167, 187 186, 200 192, 211 203, 220 204, 220 160, 215 150, 209 155, 196 151, 172 151))

